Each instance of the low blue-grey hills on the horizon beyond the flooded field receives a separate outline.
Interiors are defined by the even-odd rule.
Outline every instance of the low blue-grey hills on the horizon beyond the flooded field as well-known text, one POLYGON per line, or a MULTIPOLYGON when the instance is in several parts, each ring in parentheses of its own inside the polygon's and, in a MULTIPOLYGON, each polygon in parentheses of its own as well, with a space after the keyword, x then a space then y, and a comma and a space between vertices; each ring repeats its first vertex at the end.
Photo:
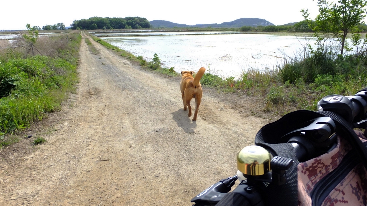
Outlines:
POLYGON ((236 19, 235 21, 231 22, 223 22, 223 23, 211 23, 211 24, 196 24, 196 25, 186 25, 186 24, 179 24, 173 23, 170 21, 163 21, 163 20, 153 20, 149 22, 150 25, 153 27, 168 27, 173 28, 177 27, 241 27, 241 26, 269 26, 274 25, 266 21, 265 19, 258 19, 258 18, 241 18, 236 19))

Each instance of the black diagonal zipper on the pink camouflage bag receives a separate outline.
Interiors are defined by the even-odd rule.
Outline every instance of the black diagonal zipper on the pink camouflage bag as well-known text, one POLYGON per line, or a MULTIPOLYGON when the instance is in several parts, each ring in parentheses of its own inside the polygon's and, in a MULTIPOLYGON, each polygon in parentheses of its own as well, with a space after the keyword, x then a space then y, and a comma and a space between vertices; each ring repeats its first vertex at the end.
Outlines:
POLYGON ((316 183, 311 192, 312 206, 321 206, 331 191, 360 163, 355 150, 345 155, 339 166, 316 183))

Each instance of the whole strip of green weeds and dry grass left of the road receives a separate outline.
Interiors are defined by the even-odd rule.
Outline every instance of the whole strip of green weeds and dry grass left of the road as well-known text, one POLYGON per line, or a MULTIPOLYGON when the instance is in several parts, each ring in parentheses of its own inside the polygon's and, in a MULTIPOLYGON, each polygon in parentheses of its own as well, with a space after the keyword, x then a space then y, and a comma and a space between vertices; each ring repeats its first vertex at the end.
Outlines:
POLYGON ((47 118, 75 92, 80 32, 39 37, 37 28, 27 29, 0 41, 0 148, 17 141, 6 134, 47 118))

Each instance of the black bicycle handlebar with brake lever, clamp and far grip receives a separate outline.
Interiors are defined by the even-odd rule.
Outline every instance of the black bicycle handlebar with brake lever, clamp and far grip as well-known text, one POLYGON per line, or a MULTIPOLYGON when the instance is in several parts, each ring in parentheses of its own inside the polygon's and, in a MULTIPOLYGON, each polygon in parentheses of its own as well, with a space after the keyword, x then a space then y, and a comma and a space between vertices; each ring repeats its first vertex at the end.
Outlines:
MULTIPOLYGON (((331 111, 340 115, 353 128, 367 127, 367 87, 353 96, 325 96, 317 103, 317 106, 319 111, 331 111)), ((297 152, 297 159, 305 161, 316 157, 315 155, 320 155, 320 152, 325 153, 333 149, 336 140, 336 135, 333 135, 335 128, 330 117, 316 118, 306 127, 284 135, 280 138, 280 142, 291 143, 297 152)), ((247 180, 244 180, 232 192, 229 192, 236 180, 237 176, 223 179, 201 192, 191 202, 195 202, 195 206, 264 206, 261 195, 252 186, 259 182, 252 181, 250 178, 248 179, 251 180, 250 185, 247 180)))

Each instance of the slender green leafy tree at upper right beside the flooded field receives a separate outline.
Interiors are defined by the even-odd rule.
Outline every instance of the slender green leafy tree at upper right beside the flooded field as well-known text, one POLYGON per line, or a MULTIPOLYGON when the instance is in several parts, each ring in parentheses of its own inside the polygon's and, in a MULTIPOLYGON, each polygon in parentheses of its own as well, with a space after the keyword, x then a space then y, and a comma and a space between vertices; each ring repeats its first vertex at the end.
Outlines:
MULTIPOLYGON (((355 38, 359 37, 359 25, 366 17, 367 0, 339 0, 338 3, 328 3, 326 0, 317 0, 320 14, 316 17, 316 26, 313 27, 315 36, 319 33, 332 34, 340 45, 340 55, 344 49, 349 50, 348 43, 345 41, 350 32, 355 38)), ((308 17, 308 11, 303 11, 304 16, 308 17)), ((322 38, 321 38, 322 39, 322 38)))

